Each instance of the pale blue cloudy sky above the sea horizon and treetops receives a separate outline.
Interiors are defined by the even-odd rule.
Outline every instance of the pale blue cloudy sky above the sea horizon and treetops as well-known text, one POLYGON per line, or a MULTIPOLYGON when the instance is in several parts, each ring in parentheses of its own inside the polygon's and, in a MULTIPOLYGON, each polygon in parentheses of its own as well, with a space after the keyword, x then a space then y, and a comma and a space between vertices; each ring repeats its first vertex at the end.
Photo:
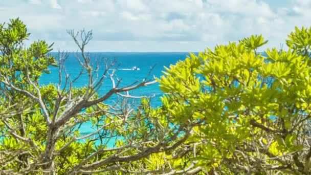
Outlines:
POLYGON ((67 30, 93 30, 90 52, 201 52, 262 34, 280 48, 311 27, 311 0, 0 0, 0 22, 19 17, 34 40, 77 51, 67 30))

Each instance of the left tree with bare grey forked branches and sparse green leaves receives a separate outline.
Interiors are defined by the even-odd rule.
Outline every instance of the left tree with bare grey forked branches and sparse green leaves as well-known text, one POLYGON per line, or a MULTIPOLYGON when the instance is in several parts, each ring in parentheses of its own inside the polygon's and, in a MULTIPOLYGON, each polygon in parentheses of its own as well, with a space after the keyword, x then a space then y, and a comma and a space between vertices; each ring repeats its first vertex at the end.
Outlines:
POLYGON ((120 86, 115 70, 109 70, 116 61, 108 60, 99 75, 99 67, 92 67, 90 54, 85 52, 92 31, 68 33, 80 50, 76 54, 81 64, 79 76, 88 77, 83 88, 73 85, 79 76, 66 73, 66 53, 58 52, 56 60, 49 54, 52 45, 42 40, 25 48, 24 40, 30 34, 18 18, 11 19, 7 27, 0 25, 0 174, 200 171, 187 162, 179 165, 185 162, 179 156, 185 150, 182 143, 197 123, 173 123, 165 111, 152 109, 145 98, 132 109, 126 102, 131 97, 128 92, 155 81, 147 76, 120 86), (59 83, 39 84, 51 66, 59 68, 59 83), (98 94, 105 79, 111 80, 112 88, 98 94), (105 103, 114 94, 123 98, 122 103, 105 103), (86 135, 79 132, 83 123, 92 123, 86 135), (171 158, 164 160, 169 157, 165 155, 171 158), (160 162, 164 163, 160 166, 160 162))

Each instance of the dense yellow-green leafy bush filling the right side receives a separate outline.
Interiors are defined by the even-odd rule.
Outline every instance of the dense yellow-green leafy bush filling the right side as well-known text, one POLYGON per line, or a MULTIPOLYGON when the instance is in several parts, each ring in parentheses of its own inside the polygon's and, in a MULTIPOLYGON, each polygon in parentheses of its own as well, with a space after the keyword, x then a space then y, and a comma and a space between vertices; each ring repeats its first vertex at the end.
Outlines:
POLYGON ((256 50, 252 35, 166 68, 158 81, 173 122, 201 122, 185 144, 214 174, 311 172, 311 28, 295 28, 288 50, 256 50))

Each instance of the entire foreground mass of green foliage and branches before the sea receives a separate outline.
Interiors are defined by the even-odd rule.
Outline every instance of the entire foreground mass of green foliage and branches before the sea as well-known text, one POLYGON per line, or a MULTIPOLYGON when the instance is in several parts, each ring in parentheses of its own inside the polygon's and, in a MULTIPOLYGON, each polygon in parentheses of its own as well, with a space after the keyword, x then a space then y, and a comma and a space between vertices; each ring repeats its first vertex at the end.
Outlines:
POLYGON ((35 41, 18 18, 0 25, 1 174, 237 174, 311 171, 311 28, 295 28, 288 50, 258 48, 261 35, 219 45, 165 68, 157 79, 163 105, 120 87, 106 62, 92 68, 84 48, 92 31, 69 31, 80 49, 78 77, 66 55, 35 41), (79 37, 81 40, 77 39, 79 37), (51 66, 58 84, 39 84, 51 66), (82 88, 73 82, 88 77, 82 88), (103 80, 112 88, 98 94, 103 80), (115 105, 105 101, 119 95, 115 105), (83 133, 82 127, 89 127, 83 133))

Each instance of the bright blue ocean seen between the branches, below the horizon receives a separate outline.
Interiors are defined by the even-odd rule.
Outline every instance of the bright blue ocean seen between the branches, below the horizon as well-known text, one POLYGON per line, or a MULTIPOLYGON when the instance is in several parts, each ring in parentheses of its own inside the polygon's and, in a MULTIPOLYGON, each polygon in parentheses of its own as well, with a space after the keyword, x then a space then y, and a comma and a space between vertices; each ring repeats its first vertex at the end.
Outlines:
MULTIPOLYGON (((58 59, 58 53, 51 53, 58 59)), ((100 65, 98 74, 102 74, 105 70, 105 63, 103 58, 107 60, 116 60, 117 63, 114 68, 117 68, 115 74, 118 79, 122 79, 120 86, 129 85, 135 81, 143 80, 148 75, 150 68, 153 67, 153 70, 149 78, 153 79, 154 77, 161 77, 162 71, 164 71, 164 66, 169 67, 170 64, 175 64, 179 60, 184 60, 189 53, 173 52, 173 53, 118 53, 118 52, 99 52, 99 53, 90 53, 91 62, 96 65, 100 65), (99 62, 97 62, 99 61, 99 62), (136 66, 139 70, 132 70, 136 66)), ((68 58, 65 61, 66 73, 70 74, 71 79, 74 79, 79 75, 81 65, 76 58, 76 53, 69 53, 68 58)), ((50 74, 43 74, 40 78, 40 84, 49 84, 49 83, 58 83, 57 67, 51 67, 50 74)), ((64 77, 64 74, 63 76, 64 77)), ((82 75, 73 86, 80 88, 88 83, 88 77, 82 75)), ((107 78, 102 87, 99 89, 99 95, 103 95, 112 88, 112 82, 107 78)), ((151 105, 157 107, 161 105, 160 97, 163 93, 160 91, 159 83, 155 83, 149 86, 141 87, 135 91, 130 92, 130 95, 133 96, 153 96, 151 98, 151 105)), ((118 96, 114 95, 112 98, 105 101, 107 104, 114 104, 118 101, 118 96)), ((132 104, 138 104, 139 99, 131 99, 132 104)), ((82 135, 92 132, 91 123, 84 123, 80 128, 80 133, 82 135)), ((112 145, 109 145, 112 146, 112 145)))

